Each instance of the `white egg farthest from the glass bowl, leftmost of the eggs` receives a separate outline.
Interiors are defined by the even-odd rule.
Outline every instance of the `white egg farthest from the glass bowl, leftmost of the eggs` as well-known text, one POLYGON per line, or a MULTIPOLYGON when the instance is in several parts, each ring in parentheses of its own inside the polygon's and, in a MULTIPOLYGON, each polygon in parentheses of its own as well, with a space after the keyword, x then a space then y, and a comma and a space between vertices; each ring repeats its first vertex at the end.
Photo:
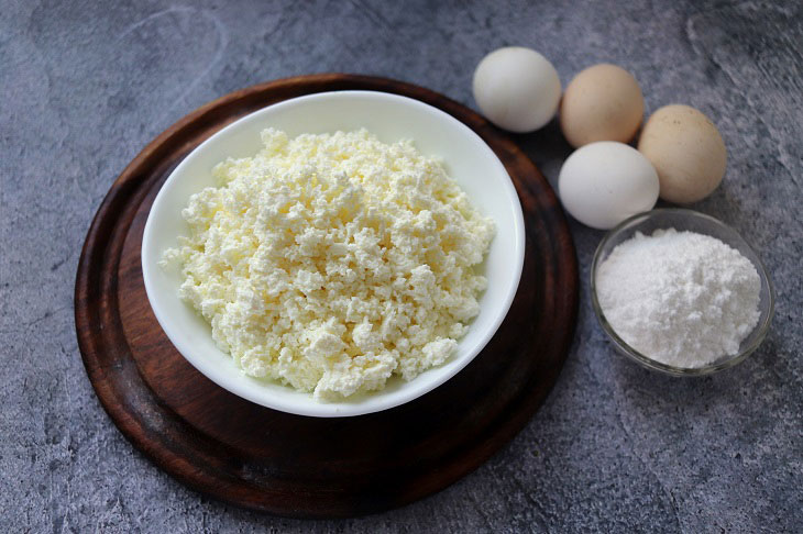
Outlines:
POLYGON ((474 71, 474 100, 483 114, 510 132, 532 132, 558 111, 558 71, 538 52, 521 46, 498 48, 474 71))

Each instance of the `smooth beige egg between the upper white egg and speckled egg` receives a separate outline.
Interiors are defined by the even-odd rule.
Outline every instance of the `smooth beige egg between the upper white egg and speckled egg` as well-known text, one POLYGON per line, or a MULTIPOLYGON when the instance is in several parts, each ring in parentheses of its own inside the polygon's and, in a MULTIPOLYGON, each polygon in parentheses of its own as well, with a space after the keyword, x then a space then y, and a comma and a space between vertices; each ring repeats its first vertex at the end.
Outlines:
POLYGON ((641 88, 622 67, 600 64, 572 79, 560 104, 560 127, 569 144, 595 141, 627 143, 636 136, 645 112, 641 88))

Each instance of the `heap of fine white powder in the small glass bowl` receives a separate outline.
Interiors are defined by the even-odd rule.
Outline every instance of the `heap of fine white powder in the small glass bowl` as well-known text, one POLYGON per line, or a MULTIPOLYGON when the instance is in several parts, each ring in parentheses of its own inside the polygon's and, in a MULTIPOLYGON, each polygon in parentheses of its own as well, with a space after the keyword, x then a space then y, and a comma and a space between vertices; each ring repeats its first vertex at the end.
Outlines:
POLYGON ((631 347, 694 368, 738 353, 759 319, 761 280, 722 241, 674 229, 637 233, 600 266, 605 319, 631 347))

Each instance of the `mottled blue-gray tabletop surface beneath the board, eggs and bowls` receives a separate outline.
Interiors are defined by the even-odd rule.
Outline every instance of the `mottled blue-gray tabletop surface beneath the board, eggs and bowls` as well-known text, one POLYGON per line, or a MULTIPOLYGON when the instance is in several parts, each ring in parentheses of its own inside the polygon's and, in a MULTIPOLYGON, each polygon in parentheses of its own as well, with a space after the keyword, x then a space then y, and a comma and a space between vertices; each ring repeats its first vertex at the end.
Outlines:
MULTIPOLYGON (((1 0, 0 532, 800 532, 801 3, 573 3, 1 0), (290 75, 387 76, 474 107, 474 66, 510 44, 543 53, 564 85, 617 63, 648 112, 682 102, 719 126, 727 176, 694 208, 772 272, 758 353, 705 379, 614 354, 586 282, 602 233, 572 222, 580 322, 560 380, 447 490, 352 521, 284 520, 189 491, 135 452, 92 392, 73 321, 80 247, 123 167, 196 107, 290 75)), ((554 183, 569 153, 554 123, 516 140, 554 183)))

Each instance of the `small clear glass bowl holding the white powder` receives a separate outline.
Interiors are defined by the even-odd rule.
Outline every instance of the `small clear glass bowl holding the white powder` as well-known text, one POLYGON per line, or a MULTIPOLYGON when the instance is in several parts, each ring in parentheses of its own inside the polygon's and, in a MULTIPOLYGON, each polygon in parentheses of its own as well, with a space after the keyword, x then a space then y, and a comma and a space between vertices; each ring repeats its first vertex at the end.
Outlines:
POLYGON ((738 232, 713 216, 704 215, 692 210, 676 208, 659 209, 639 213, 622 222, 618 226, 614 227, 605 235, 594 253, 594 262, 591 266, 591 299, 594 307, 594 313, 596 313, 596 319, 600 321, 600 325, 619 353, 625 354, 645 367, 673 376, 711 375, 712 372, 727 369, 728 367, 733 367, 743 361, 750 355, 750 353, 758 348, 763 338, 767 336, 770 323, 772 322, 776 304, 776 293, 772 288, 772 282, 770 281, 770 277, 767 274, 767 269, 752 247, 747 244, 738 232), (736 355, 721 357, 713 364, 705 367, 674 367, 657 361, 649 356, 639 353, 619 337, 610 324, 608 324, 596 297, 596 270, 619 243, 629 240, 636 234, 636 232, 649 235, 656 230, 670 227, 673 227, 679 232, 690 231, 716 237, 726 245, 736 248, 743 256, 749 259, 756 267, 759 278, 761 278, 761 292, 759 297, 760 315, 758 324, 755 329, 752 329, 752 332, 743 340, 739 345, 739 352, 736 355))

